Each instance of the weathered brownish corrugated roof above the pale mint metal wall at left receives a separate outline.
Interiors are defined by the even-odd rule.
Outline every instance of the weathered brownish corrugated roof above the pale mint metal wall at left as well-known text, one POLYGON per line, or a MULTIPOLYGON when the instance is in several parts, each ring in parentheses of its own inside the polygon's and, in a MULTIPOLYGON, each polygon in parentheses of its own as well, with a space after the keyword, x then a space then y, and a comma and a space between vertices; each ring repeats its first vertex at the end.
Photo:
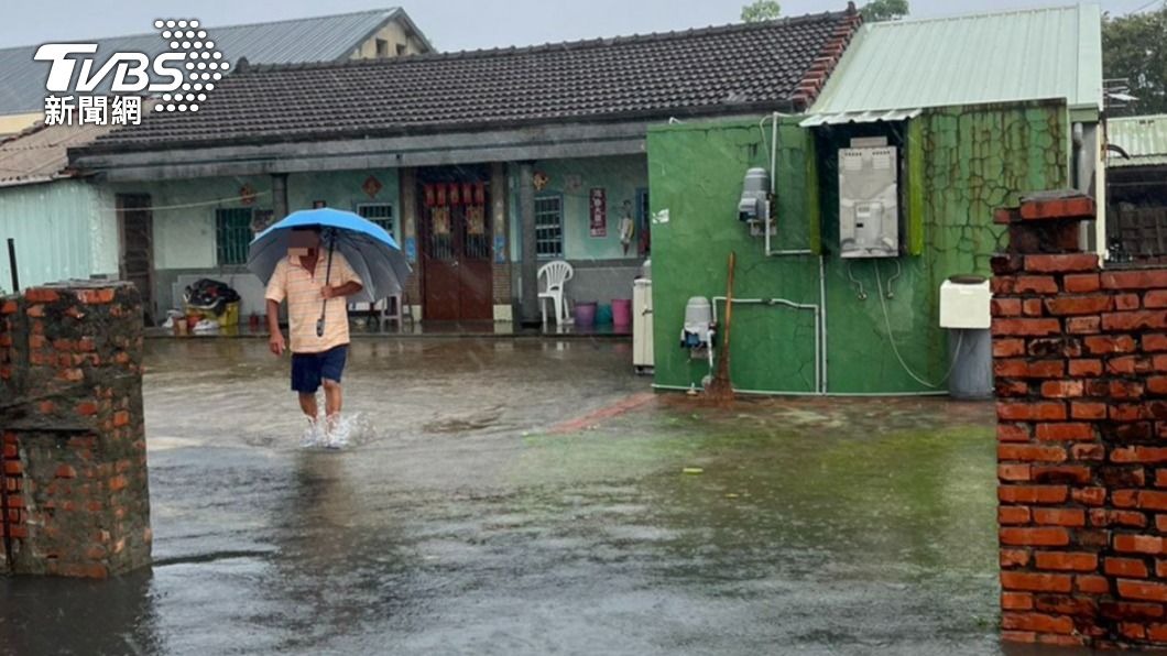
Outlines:
POLYGON ((112 130, 110 125, 37 126, 0 142, 0 187, 68 177, 69 148, 112 130))

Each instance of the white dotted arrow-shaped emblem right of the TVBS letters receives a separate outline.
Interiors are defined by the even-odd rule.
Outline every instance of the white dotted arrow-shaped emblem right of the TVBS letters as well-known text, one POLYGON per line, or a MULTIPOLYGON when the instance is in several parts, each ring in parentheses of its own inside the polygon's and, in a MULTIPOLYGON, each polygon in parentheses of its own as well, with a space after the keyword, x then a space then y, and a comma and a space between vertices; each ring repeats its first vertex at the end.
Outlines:
POLYGON ((154 28, 173 53, 183 55, 186 71, 182 86, 163 93, 154 111, 197 112, 200 103, 207 100, 207 92, 215 90, 215 83, 223 79, 231 64, 223 60, 223 53, 215 49, 215 41, 196 20, 159 19, 154 28))

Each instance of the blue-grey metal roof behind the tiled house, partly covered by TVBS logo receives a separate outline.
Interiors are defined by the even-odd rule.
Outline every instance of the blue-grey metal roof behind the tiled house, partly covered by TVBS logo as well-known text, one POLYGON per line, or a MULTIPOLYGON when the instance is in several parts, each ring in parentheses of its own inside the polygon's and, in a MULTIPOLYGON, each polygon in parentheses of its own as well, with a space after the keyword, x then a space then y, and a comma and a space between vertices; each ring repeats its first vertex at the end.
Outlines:
MULTIPOLYGON (((313 16, 266 23, 205 26, 216 49, 228 61, 246 57, 253 64, 291 64, 345 60, 385 22, 408 16, 397 7, 351 14, 313 16)), ((417 32, 418 37, 425 36, 417 32)), ((71 40, 84 41, 84 40, 71 40)), ((97 39, 98 54, 134 51, 154 56, 167 50, 158 33, 97 39)), ((44 81, 48 62, 33 60, 37 46, 0 49, 0 114, 34 112, 44 109, 44 81)), ((96 67, 95 67, 96 68, 96 67)), ((98 89, 98 93, 109 93, 98 89)))

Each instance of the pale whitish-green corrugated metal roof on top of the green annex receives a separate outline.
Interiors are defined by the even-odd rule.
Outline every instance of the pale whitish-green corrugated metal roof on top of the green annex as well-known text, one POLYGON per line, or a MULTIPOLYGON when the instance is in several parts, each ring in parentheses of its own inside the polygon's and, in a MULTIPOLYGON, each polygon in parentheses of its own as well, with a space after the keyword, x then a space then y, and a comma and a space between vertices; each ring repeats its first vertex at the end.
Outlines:
POLYGON ((1097 5, 865 25, 809 113, 1053 98, 1102 107, 1097 5))

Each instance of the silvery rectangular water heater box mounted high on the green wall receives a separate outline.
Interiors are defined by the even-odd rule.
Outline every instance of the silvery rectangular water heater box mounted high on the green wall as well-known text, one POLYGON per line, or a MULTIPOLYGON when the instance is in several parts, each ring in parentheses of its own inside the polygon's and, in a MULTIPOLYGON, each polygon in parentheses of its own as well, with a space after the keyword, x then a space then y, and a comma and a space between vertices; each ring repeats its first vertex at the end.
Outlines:
POLYGON ((894 146, 839 151, 839 251, 845 258, 900 254, 894 146))

